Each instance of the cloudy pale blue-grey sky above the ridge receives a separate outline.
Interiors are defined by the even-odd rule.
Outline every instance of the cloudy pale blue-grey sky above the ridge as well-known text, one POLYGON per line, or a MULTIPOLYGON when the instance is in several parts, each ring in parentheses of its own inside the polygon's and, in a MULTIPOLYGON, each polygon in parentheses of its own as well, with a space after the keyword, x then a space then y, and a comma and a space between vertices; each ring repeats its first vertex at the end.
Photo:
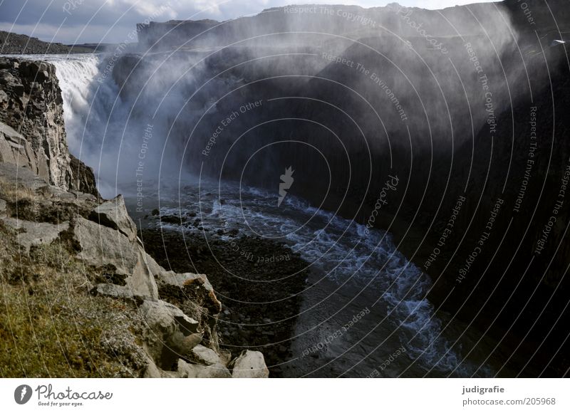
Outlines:
MULTIPOLYGON (((400 0, 424 9, 489 0, 400 0)), ((385 6, 395 0, 309 0, 296 4, 385 6)), ((0 0, 0 30, 59 43, 121 43, 136 23, 167 20, 227 20, 249 16, 291 0, 0 0)), ((130 38, 133 36, 131 35, 130 38)))

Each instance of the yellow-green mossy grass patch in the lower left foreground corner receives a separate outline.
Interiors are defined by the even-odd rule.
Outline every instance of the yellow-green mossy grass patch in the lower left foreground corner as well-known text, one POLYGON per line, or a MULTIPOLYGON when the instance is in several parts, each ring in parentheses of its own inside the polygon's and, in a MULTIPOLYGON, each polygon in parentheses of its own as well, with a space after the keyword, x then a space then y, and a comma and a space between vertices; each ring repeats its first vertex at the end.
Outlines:
POLYGON ((63 241, 28 256, 14 234, 0 224, 0 377, 140 375, 135 304, 91 296, 98 274, 63 241))

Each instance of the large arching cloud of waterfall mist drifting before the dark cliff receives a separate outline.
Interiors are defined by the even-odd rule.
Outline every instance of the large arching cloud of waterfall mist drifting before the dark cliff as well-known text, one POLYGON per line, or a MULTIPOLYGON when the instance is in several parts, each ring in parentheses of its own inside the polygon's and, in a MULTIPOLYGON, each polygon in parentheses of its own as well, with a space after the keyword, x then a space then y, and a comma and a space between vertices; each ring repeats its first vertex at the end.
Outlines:
POLYGON ((517 4, 142 23, 138 50, 100 58, 68 135, 109 196, 141 167, 145 185, 201 175, 273 188, 294 165, 301 196, 368 199, 388 172, 491 140, 497 116, 530 96, 528 73, 546 84, 549 39, 533 26, 517 4))

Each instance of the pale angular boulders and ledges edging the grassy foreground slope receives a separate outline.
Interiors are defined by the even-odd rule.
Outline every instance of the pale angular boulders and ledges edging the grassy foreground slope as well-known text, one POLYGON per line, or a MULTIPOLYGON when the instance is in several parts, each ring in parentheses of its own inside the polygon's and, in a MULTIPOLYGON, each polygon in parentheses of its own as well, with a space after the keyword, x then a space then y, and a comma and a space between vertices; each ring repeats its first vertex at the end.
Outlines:
MULTIPOLYGON (((261 352, 244 350, 234 358, 219 349, 222 304, 207 276, 159 266, 145 252, 123 197, 102 201, 93 194, 66 192, 29 168, 5 162, 0 177, 0 226, 6 237, 14 237, 3 244, 16 244, 24 262, 42 246, 57 244, 66 261, 83 267, 85 296, 123 302, 133 320, 140 320, 138 333, 122 332, 131 343, 129 351, 142 360, 130 374, 269 377, 261 352)), ((27 271, 18 262, 14 266, 16 272, 17 267, 27 271)), ((124 352, 110 346, 114 353, 124 352)))

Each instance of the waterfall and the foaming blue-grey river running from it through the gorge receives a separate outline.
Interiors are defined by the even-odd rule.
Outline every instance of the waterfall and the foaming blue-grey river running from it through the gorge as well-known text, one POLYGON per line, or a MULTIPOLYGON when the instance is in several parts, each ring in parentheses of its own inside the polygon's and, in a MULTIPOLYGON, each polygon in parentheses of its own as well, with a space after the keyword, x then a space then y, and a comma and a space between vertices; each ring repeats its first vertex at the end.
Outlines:
MULTIPOLYGON (((130 133, 126 119, 133 120, 133 115, 128 103, 118 98, 112 76, 103 76, 100 56, 42 58, 57 69, 71 152, 95 169, 103 196, 125 194, 136 214, 138 124, 145 121, 130 122, 139 127, 130 133), (122 164, 130 160, 130 169, 118 168, 119 157, 122 164)), ((145 173, 146 214, 159 207, 161 215, 197 211, 202 219, 199 227, 162 223, 165 229, 170 225, 172 231, 201 233, 204 243, 217 236, 218 229, 234 229, 284 242, 309 263, 311 275, 291 338, 293 357, 283 360, 285 375, 493 374, 493 360, 485 360, 481 350, 470 352, 480 337, 452 316, 436 312, 425 298, 430 278, 395 248, 389 233, 368 233, 361 224, 292 196, 278 206, 278 182, 274 192, 267 192, 239 182, 189 177, 183 171, 175 177, 155 174, 154 180, 145 173)))

